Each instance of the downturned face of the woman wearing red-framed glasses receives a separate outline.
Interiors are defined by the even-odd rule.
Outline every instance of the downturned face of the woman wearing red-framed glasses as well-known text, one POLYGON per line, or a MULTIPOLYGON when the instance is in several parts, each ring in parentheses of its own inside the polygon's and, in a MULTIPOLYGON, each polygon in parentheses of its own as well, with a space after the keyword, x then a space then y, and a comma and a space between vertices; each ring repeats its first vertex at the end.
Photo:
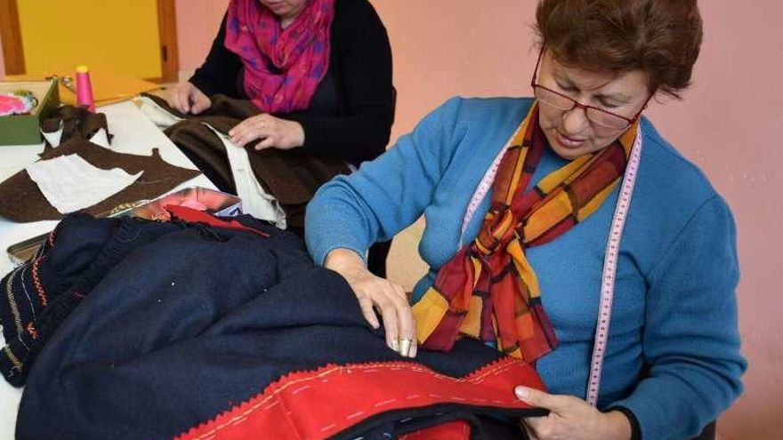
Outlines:
MULTIPOLYGON (((569 96, 577 102, 601 108, 628 119, 633 118, 650 97, 647 75, 632 70, 616 75, 567 67, 544 52, 537 84, 569 96)), ((540 103, 539 125, 555 153, 574 159, 607 147, 626 131, 595 124, 585 109, 563 111, 540 103)))

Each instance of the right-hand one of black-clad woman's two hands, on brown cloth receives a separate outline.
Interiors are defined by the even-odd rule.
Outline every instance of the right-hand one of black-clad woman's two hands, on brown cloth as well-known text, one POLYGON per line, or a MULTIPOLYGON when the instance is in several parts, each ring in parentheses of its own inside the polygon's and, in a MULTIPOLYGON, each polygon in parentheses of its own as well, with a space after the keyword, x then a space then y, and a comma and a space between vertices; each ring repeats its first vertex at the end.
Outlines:
POLYGON ((287 121, 268 113, 250 116, 230 129, 231 141, 239 147, 260 139, 256 150, 264 148, 291 149, 304 145, 302 124, 287 121))

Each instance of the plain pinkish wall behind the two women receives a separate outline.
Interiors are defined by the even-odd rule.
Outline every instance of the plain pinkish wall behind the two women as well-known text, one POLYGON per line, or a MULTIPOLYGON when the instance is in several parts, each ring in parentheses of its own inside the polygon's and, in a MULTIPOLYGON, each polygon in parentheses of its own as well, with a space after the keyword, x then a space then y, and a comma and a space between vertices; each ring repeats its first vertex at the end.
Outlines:
MULTIPOLYGON (((372 0, 391 36, 399 91, 396 138, 443 100, 529 95, 535 63, 533 2, 372 0)), ((198 67, 227 0, 179 0, 180 62, 198 67)), ((740 331, 747 391, 721 420, 724 436, 772 440, 783 432, 783 32, 776 0, 700 2, 706 41, 695 85, 649 116, 728 199, 739 227, 740 331)), ((2 74, 2 58, 0 58, 2 74)), ((408 236, 409 238, 409 236, 408 236)), ((415 243, 406 242, 406 252, 415 243)), ((416 269, 418 270, 418 269, 416 269)), ((698 274, 694 274, 698 276, 698 274)))

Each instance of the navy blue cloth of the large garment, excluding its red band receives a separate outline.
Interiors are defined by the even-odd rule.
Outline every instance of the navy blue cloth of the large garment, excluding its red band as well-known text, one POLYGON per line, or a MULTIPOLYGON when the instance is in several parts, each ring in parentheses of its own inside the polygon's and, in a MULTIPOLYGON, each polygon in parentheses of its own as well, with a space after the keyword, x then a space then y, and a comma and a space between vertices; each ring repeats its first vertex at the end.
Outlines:
MULTIPOLYGON (((132 236, 109 238, 104 248, 116 242, 124 253, 112 255, 123 257, 96 257, 93 266, 110 268, 49 335, 28 371, 17 437, 172 438, 288 373, 405 360, 385 347, 383 330, 367 325, 343 278, 312 264, 298 237, 253 224, 270 236, 147 222, 134 224, 132 236)), ((461 377, 500 358, 465 340, 416 363, 461 377)), ((455 418, 486 434, 475 438, 521 436, 504 416, 541 413, 412 408, 357 420, 336 438, 391 438, 455 418)))

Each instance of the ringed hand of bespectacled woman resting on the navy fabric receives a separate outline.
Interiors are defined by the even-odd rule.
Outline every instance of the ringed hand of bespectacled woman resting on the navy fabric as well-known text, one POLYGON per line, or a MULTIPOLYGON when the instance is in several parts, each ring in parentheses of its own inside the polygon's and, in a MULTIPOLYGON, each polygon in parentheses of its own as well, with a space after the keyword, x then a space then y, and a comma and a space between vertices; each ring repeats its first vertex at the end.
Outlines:
POLYGON ((402 356, 416 356, 416 321, 405 291, 397 284, 370 273, 359 254, 348 249, 329 252, 324 267, 342 275, 359 300, 367 322, 378 328, 377 309, 386 328, 386 345, 402 356))

